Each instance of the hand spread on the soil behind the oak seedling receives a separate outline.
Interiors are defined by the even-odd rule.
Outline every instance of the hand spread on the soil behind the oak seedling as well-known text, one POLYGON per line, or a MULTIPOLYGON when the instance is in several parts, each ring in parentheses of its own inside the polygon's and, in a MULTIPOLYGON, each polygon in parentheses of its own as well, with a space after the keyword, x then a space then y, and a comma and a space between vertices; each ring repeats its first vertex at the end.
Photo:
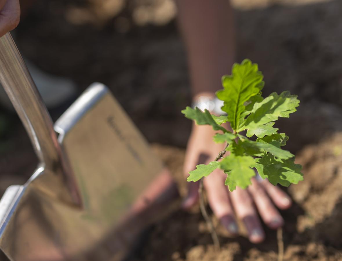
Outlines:
MULTIPOLYGON (((184 173, 194 170, 198 164, 208 164, 216 158, 224 145, 213 142, 215 131, 211 126, 193 126, 185 155, 184 173)), ((284 220, 275 206, 287 209, 291 199, 280 188, 273 186, 267 180, 252 179, 252 185, 247 190, 239 187, 229 192, 224 185, 227 175, 216 169, 204 179, 209 205, 215 216, 226 227, 228 232, 238 234, 238 226, 234 216, 240 219, 248 231, 252 243, 260 243, 264 237, 258 212, 267 226, 277 229, 284 220), (255 208, 256 207, 256 208, 255 208), (234 215, 235 212, 235 215, 234 215)), ((192 207, 198 201, 199 182, 188 184, 188 195, 183 202, 185 209, 192 207)))

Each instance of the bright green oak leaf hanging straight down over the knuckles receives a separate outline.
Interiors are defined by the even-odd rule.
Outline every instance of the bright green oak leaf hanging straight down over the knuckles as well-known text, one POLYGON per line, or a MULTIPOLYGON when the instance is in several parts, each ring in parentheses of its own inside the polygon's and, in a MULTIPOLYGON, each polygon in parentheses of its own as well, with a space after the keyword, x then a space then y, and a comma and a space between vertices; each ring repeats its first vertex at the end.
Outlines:
POLYGON ((236 186, 246 188, 251 184, 251 178, 255 175, 251 166, 254 166, 255 162, 251 156, 235 156, 231 154, 221 161, 221 169, 224 172, 228 172, 226 184, 229 186, 229 190, 235 190, 236 186))

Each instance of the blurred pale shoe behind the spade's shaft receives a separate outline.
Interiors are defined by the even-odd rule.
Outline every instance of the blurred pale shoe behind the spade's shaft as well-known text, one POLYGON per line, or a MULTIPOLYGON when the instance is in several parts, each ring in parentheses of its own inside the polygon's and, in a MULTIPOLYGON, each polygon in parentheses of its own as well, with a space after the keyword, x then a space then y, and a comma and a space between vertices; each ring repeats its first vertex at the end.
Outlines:
MULTIPOLYGON (((56 108, 76 95, 76 84, 70 79, 49 75, 27 60, 25 63, 48 109, 56 108)), ((0 105, 14 110, 1 84, 0 105)))

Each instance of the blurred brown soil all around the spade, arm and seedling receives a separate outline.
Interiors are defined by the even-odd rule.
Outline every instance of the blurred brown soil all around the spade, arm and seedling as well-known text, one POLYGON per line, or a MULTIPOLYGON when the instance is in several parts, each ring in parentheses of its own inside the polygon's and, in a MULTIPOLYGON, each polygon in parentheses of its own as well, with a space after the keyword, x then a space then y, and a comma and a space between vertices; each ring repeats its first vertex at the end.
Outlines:
MULTIPOLYGON (((259 64, 266 95, 289 90, 301 100, 298 113, 276 124, 290 136, 287 149, 297 154, 305 174, 290 188, 294 206, 282 213, 285 257, 341 260, 342 1, 231 2, 235 60, 259 64)), ((191 95, 175 3, 28 0, 22 1, 22 10, 13 35, 25 60, 55 89, 65 82, 73 90, 63 103, 51 101, 53 120, 92 82, 106 84, 184 190, 181 170, 191 122, 180 111, 191 104, 191 95)), ((3 193, 11 184, 23 184, 37 159, 19 118, 6 102, 1 104, 3 193)), ((176 210, 150 229, 132 259, 274 260, 275 232, 266 232, 265 243, 252 245, 243 237, 226 238, 222 229, 224 244, 215 252, 199 212, 176 210)))

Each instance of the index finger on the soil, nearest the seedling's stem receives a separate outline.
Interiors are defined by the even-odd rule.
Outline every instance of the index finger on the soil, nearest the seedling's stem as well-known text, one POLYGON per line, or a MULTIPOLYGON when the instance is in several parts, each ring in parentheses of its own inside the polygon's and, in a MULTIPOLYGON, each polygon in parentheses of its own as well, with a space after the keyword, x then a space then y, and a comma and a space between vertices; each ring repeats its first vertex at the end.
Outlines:
POLYGON ((210 177, 204 180, 204 185, 209 205, 215 216, 229 233, 236 235, 238 233, 238 226, 235 222, 227 188, 224 185, 222 170, 215 170, 212 172, 210 177))

